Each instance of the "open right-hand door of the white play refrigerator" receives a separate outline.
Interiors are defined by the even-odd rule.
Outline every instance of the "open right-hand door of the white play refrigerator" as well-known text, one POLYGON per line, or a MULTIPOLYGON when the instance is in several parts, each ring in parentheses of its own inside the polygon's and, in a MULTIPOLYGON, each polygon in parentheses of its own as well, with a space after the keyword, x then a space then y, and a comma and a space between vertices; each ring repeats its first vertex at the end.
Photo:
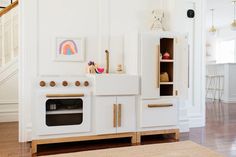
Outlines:
POLYGON ((189 54, 187 36, 178 36, 175 41, 175 90, 182 99, 188 98, 189 54))

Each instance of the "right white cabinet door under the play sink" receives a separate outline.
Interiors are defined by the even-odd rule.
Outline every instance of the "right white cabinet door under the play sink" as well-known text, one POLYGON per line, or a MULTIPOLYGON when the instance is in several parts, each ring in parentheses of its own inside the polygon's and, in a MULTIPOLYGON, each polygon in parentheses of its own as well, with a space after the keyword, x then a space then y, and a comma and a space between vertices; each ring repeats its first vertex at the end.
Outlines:
POLYGON ((134 96, 117 97, 118 118, 117 132, 134 132, 136 131, 136 107, 134 96))

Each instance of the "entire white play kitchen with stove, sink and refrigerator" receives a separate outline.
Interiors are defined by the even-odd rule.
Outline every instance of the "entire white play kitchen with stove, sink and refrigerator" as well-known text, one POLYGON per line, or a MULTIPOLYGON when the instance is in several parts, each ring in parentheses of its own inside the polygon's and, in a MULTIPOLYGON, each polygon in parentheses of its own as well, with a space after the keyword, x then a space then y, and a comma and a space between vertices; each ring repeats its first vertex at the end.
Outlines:
POLYGON ((188 97, 187 40, 132 33, 125 40, 126 73, 37 78, 32 153, 60 142, 131 137, 137 144, 155 134, 178 140, 180 102, 188 97))

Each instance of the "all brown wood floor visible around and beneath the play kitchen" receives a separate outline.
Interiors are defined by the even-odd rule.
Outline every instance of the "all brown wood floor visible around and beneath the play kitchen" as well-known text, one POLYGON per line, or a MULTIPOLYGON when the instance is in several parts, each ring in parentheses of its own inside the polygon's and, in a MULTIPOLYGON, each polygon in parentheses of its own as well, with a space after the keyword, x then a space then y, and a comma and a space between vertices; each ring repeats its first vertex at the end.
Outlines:
MULTIPOLYGON (((181 134, 180 140, 192 140, 224 154, 236 156, 236 104, 207 103, 206 127, 191 129, 181 134)), ((30 144, 19 144, 18 124, 0 123, 0 157, 30 157, 30 144)), ((38 155, 76 152, 94 149, 123 147, 130 145, 130 139, 79 142, 70 144, 54 144, 42 146, 38 155)), ((143 139, 142 144, 174 142, 163 136, 150 136, 143 139)))

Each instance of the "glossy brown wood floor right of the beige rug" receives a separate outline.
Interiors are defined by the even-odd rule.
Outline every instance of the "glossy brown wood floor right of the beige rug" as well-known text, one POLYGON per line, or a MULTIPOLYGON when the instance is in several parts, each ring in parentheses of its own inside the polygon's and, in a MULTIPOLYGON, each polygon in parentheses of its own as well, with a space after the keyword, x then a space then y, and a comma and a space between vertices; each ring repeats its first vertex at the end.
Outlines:
POLYGON ((187 139, 236 157, 236 104, 208 101, 206 127, 191 129, 187 139))

